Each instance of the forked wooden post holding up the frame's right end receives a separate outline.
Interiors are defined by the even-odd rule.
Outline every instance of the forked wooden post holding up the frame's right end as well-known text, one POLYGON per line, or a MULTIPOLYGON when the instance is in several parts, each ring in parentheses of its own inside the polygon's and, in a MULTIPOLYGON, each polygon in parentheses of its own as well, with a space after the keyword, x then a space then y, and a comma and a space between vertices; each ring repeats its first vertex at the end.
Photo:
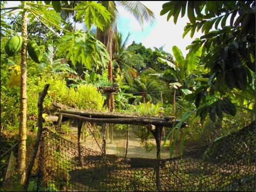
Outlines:
POLYGON ((152 124, 148 124, 146 126, 147 130, 150 131, 156 140, 157 145, 157 164, 156 164, 156 186, 157 190, 161 191, 161 185, 160 185, 160 160, 161 160, 161 140, 162 140, 162 132, 163 132, 163 126, 155 126, 152 124))

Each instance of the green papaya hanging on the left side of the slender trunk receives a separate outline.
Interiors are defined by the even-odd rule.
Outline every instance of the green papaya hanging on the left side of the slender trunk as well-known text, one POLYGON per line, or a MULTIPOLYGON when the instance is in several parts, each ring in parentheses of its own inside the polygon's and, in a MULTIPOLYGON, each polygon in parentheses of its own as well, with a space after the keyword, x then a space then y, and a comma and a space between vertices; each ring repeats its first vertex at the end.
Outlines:
POLYGON ((17 55, 22 49, 22 37, 15 35, 11 37, 5 44, 5 52, 9 56, 17 55))

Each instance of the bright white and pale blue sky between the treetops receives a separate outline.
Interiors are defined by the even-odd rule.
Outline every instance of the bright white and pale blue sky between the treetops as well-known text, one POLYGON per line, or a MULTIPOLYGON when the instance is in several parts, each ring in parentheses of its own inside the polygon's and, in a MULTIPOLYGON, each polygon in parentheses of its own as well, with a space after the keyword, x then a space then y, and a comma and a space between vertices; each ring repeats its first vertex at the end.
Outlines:
MULTIPOLYGON (((155 14, 155 22, 153 25, 150 23, 145 23, 143 29, 139 25, 139 22, 133 17, 132 14, 118 7, 119 17, 117 19, 117 28, 120 33, 122 33, 123 40, 127 37, 130 32, 130 38, 127 45, 130 45, 133 41, 136 43, 142 43, 146 48, 154 47, 158 49, 163 46, 163 50, 167 53, 173 55, 172 47, 174 45, 178 46, 181 50, 183 56, 185 57, 188 51, 186 46, 191 44, 191 42, 196 38, 202 36, 202 33, 195 32, 193 39, 190 38, 189 33, 182 38, 184 27, 186 23, 189 22, 186 15, 181 18, 178 17, 177 24, 173 22, 171 17, 167 21, 167 13, 160 16, 160 11, 162 10, 162 5, 166 1, 141 1, 147 8, 151 9, 155 14)), ((18 5, 20 2, 8 1, 7 7, 12 7, 18 5)))

